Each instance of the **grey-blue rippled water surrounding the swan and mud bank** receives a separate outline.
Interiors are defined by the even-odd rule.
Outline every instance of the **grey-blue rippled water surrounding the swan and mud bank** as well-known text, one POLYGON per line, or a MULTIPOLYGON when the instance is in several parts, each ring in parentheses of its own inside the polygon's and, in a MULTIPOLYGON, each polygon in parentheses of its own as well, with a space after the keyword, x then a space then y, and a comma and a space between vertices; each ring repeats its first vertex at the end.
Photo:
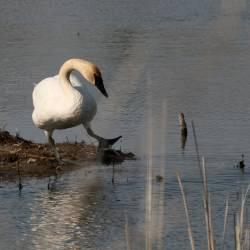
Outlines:
MULTIPOLYGON (((249 2, 0 4, 0 126, 44 142, 31 120, 33 84, 57 74, 70 57, 86 58, 101 68, 110 96, 94 90, 94 130, 105 137, 123 135, 117 147, 140 157, 116 168, 115 185, 112 168, 93 163, 51 177, 51 190, 48 178, 25 179, 21 193, 15 182, 2 178, 0 249, 129 249, 126 226, 131 249, 145 249, 146 235, 152 249, 190 249, 177 171, 187 191, 197 249, 206 249, 191 120, 206 157, 216 243, 219 248, 229 196, 225 249, 233 249, 233 213, 250 183, 249 2), (188 122, 185 151, 179 112, 188 122), (244 174, 233 168, 242 153, 244 174), (156 175, 163 182, 156 182, 156 175)), ((55 133, 57 141, 66 137, 94 142, 81 127, 55 133)))

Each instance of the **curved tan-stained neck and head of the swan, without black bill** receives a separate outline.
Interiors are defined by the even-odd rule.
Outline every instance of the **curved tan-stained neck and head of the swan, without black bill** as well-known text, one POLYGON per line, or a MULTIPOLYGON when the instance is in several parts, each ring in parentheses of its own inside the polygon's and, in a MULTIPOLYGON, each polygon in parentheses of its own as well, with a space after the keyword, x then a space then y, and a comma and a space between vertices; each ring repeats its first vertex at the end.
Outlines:
POLYGON ((72 92, 73 87, 69 80, 73 70, 78 71, 87 81, 94 83, 93 73, 91 71, 93 65, 82 59, 70 59, 66 61, 59 70, 59 80, 65 92, 72 92))

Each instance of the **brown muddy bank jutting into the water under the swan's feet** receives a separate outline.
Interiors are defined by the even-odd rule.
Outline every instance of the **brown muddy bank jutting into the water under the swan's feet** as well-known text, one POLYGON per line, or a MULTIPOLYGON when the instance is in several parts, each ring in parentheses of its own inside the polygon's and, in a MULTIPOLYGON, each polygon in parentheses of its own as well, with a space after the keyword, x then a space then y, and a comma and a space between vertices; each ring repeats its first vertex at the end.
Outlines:
POLYGON ((133 153, 120 150, 98 150, 85 143, 58 143, 58 151, 64 161, 59 166, 48 144, 34 143, 8 131, 0 131, 0 176, 50 176, 83 167, 88 162, 103 164, 135 160, 133 153))

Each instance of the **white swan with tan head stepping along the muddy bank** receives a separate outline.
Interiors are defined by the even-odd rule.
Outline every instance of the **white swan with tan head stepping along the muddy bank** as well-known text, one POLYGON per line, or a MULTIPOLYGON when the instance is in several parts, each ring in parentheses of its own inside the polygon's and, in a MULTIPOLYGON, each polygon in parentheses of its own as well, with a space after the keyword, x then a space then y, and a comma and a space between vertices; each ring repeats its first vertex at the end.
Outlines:
POLYGON ((58 162, 62 161, 52 138, 55 129, 66 129, 82 124, 87 133, 98 140, 99 147, 104 148, 113 145, 121 138, 119 136, 114 139, 104 139, 93 132, 90 122, 96 114, 96 102, 83 84, 70 81, 73 70, 78 71, 108 97, 101 71, 95 64, 82 59, 66 61, 58 75, 46 78, 35 86, 32 94, 34 105, 32 120, 38 128, 44 130, 58 162))

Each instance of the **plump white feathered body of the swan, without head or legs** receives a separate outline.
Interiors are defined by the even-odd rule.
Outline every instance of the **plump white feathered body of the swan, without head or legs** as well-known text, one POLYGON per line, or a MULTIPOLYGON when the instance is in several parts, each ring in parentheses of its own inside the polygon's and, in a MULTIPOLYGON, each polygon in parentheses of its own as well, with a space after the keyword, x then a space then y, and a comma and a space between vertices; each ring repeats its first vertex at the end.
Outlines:
POLYGON ((72 95, 66 95, 59 76, 49 77, 35 86, 33 91, 34 124, 51 131, 66 129, 80 124, 88 126, 94 118, 97 105, 83 83, 71 74, 72 95))

